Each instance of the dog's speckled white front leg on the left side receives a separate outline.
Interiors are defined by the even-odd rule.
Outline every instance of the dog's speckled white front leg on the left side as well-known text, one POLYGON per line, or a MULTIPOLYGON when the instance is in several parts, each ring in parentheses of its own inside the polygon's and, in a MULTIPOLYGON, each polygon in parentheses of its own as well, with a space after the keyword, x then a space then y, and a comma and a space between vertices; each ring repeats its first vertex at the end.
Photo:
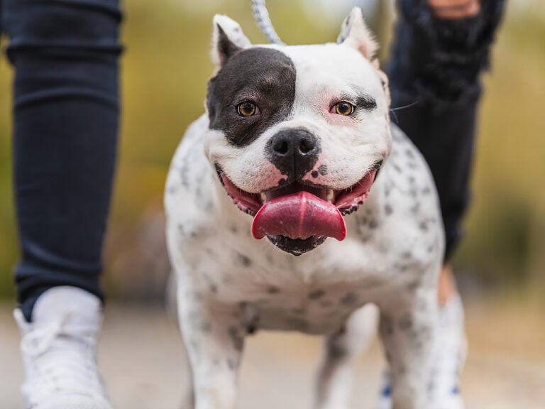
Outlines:
POLYGON ((246 333, 243 307, 181 293, 180 325, 192 369, 195 409, 234 409, 246 333))

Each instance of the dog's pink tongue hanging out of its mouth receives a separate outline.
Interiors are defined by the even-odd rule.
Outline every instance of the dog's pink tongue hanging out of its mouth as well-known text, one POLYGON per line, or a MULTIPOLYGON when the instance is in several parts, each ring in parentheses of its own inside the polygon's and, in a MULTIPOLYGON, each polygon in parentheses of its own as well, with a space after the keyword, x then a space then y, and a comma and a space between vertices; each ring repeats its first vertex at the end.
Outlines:
POLYGON ((255 239, 280 235, 290 239, 328 236, 343 240, 346 224, 334 205, 302 191, 266 202, 253 218, 252 235, 255 239))

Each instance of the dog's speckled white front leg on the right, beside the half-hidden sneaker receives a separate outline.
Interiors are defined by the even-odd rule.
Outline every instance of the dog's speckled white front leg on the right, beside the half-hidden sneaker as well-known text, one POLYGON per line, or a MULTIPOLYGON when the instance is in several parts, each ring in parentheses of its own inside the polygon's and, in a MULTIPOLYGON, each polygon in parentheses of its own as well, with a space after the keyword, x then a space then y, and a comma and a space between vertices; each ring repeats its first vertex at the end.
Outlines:
POLYGON ((392 373, 392 409, 427 409, 436 293, 419 290, 410 298, 392 299, 380 312, 380 337, 392 373))

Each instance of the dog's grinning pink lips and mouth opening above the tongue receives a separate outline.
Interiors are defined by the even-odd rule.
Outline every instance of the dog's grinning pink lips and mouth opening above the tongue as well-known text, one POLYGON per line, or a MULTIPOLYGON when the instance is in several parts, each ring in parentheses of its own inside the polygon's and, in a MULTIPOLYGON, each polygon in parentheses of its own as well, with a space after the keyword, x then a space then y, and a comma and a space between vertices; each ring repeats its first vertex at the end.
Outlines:
POLYGON ((312 182, 291 182, 289 184, 278 185, 267 190, 263 190, 260 193, 251 193, 242 190, 236 186, 231 179, 223 172, 221 166, 216 163, 216 172, 218 173, 219 180, 233 200, 233 203, 241 209, 242 212, 250 214, 252 217, 257 214, 259 209, 263 207, 266 202, 273 200, 277 197, 291 195, 302 190, 312 193, 321 200, 326 200, 335 205, 339 212, 346 216, 355 212, 360 205, 367 199, 370 189, 375 181, 382 161, 376 163, 363 178, 358 182, 346 189, 332 189, 331 187, 325 187, 323 185, 314 185, 312 182))

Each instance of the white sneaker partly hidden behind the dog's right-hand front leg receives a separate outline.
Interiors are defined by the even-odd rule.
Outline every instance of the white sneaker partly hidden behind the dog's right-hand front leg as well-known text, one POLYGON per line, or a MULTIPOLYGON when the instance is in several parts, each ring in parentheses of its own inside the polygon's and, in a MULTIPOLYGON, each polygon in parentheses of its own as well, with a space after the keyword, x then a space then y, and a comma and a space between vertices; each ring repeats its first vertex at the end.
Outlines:
MULTIPOLYGON (((463 305, 455 295, 439 310, 439 333, 431 368, 430 409, 463 409, 459 378, 466 361, 463 305)), ((391 378, 385 373, 378 409, 392 408, 391 378)))

